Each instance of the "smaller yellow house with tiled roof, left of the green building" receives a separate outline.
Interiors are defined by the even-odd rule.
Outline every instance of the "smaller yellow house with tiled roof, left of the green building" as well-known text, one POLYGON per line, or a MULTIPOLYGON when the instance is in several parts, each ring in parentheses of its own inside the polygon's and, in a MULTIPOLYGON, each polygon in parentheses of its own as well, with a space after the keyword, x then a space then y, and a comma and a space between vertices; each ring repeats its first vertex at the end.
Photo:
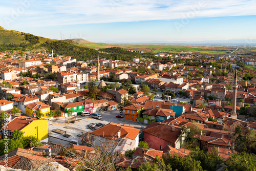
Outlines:
POLYGON ((26 115, 28 115, 29 117, 35 117, 36 111, 40 110, 40 112, 42 113, 41 119, 44 119, 48 118, 51 106, 38 101, 32 104, 25 105, 25 108, 26 115))

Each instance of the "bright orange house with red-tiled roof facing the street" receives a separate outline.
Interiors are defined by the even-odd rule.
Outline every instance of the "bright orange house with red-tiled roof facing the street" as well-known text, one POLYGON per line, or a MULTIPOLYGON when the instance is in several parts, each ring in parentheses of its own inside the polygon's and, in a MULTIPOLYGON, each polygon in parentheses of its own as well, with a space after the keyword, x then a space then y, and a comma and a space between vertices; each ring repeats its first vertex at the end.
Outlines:
POLYGON ((123 114, 125 115, 125 120, 137 121, 138 115, 143 108, 143 105, 139 104, 130 104, 123 108, 123 114))

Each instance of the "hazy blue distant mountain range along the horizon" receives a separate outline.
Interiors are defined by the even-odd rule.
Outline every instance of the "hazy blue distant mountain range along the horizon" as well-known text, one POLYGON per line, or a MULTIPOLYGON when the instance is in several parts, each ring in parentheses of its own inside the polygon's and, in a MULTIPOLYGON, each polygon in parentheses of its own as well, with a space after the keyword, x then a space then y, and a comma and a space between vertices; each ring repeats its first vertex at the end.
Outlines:
POLYGON ((105 44, 175 44, 175 45, 212 45, 212 46, 256 46, 256 39, 229 39, 229 40, 204 40, 204 41, 104 41, 105 44))

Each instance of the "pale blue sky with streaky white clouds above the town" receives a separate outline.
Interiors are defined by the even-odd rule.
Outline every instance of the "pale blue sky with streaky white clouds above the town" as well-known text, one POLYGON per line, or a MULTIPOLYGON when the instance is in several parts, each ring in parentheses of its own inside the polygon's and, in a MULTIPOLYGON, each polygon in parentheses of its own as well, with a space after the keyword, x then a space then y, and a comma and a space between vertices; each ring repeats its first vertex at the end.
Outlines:
POLYGON ((254 0, 2 0, 0 26, 94 42, 256 39, 254 0))

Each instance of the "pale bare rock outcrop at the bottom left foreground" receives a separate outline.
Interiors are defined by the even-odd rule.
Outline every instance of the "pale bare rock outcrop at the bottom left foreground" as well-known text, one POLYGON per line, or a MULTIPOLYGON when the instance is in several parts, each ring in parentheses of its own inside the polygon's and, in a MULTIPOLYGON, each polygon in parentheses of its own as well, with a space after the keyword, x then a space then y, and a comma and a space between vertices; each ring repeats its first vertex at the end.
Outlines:
MULTIPOLYGON (((22 169, 13 169, 10 167, 0 166, 0 171, 25 171, 22 169)), ((30 169, 29 171, 69 171, 68 168, 62 166, 57 162, 46 163, 38 168, 30 169)))

